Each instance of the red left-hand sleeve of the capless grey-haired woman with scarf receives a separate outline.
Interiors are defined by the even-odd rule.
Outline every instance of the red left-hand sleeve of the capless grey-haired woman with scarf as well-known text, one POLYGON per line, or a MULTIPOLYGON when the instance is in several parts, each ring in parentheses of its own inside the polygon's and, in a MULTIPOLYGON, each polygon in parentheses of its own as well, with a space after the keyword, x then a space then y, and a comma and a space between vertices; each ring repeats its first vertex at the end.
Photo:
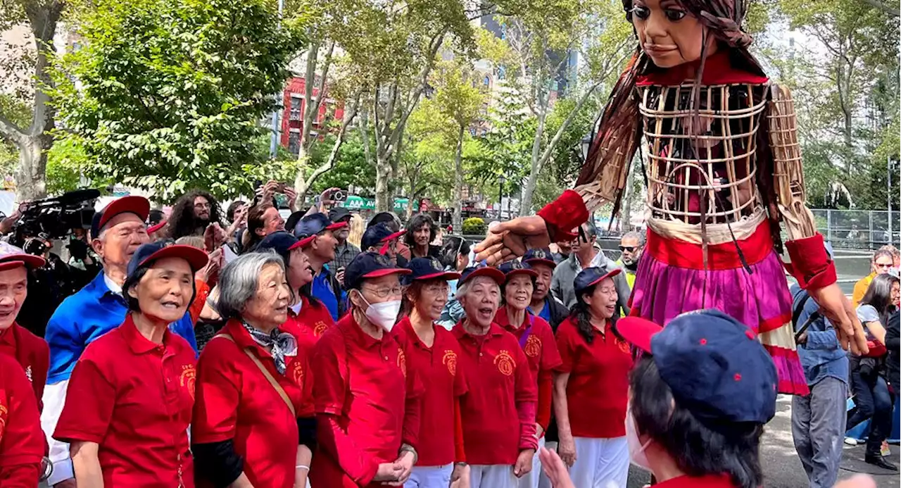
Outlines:
POLYGON ((192 441, 197 444, 222 442, 234 438, 238 424, 241 388, 232 367, 241 354, 238 345, 214 338, 197 362, 192 441))

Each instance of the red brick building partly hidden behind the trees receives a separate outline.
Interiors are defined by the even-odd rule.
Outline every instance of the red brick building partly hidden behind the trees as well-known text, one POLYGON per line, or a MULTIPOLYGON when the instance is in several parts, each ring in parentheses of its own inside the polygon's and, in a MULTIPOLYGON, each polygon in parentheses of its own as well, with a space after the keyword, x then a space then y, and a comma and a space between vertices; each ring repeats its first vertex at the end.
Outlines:
MULTIPOLYGON (((319 77, 314 79, 313 97, 319 97, 319 77)), ((303 77, 292 77, 287 81, 282 103, 285 106, 281 121, 281 145, 288 151, 297 153, 300 150, 300 131, 304 126, 305 100, 304 92, 306 81, 303 77)), ((344 117, 344 104, 328 97, 328 87, 325 88, 325 99, 319 106, 313 126, 310 130, 311 137, 321 137, 323 124, 328 124, 332 119, 341 120, 344 117)))

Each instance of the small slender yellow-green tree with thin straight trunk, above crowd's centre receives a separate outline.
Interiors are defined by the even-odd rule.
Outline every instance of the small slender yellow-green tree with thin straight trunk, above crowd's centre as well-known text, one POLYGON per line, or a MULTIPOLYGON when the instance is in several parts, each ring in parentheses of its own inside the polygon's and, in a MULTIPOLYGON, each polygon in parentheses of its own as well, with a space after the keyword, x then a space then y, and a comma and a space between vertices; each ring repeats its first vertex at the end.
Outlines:
POLYGON ((463 138, 487 102, 487 95, 477 82, 476 71, 467 60, 456 58, 443 63, 438 70, 438 92, 435 101, 439 111, 453 127, 454 141, 454 207, 453 226, 462 226, 463 205, 463 138))

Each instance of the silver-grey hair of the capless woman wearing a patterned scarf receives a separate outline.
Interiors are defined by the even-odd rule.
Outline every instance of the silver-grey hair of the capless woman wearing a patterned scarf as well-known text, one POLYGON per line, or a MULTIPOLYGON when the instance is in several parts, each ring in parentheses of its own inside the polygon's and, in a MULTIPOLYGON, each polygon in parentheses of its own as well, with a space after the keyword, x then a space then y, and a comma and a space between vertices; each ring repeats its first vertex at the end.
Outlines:
POLYGON ((223 268, 219 277, 219 300, 216 311, 222 318, 240 318, 244 305, 257 293, 259 275, 269 264, 278 264, 285 271, 285 262, 275 250, 246 253, 223 268))

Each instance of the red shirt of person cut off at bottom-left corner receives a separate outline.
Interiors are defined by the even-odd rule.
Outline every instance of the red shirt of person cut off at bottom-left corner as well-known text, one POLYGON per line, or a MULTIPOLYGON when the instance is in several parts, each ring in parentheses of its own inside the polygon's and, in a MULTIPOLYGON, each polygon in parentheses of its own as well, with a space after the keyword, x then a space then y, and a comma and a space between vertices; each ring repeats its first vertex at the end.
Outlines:
POLYGON ((32 385, 14 358, 0 354, 0 485, 37 486, 43 456, 44 434, 32 385))

